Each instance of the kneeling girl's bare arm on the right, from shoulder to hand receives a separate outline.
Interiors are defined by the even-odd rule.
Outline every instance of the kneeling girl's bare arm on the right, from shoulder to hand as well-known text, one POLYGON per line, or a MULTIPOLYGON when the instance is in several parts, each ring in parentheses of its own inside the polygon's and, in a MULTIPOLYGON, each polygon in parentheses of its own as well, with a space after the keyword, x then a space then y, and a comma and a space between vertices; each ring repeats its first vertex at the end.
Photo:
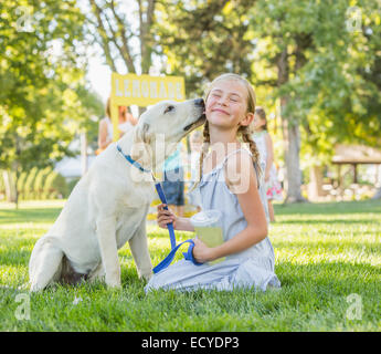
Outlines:
POLYGON ((243 153, 227 159, 225 181, 239 199, 247 227, 221 246, 209 248, 201 240, 194 240, 193 256, 199 262, 242 252, 267 236, 267 221, 261 202, 252 158, 243 153))

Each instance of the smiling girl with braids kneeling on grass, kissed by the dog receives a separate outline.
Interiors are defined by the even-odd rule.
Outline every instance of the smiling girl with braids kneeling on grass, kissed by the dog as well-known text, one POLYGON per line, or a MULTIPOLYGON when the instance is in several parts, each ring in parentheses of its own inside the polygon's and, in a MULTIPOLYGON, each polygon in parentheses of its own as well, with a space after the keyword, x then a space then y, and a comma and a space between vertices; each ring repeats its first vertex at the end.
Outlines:
MULTIPOLYGON (((258 152, 248 132, 254 110, 254 91, 243 77, 224 74, 212 82, 205 95, 207 123, 197 188, 202 209, 222 212, 224 242, 209 248, 195 238, 193 257, 203 264, 180 260, 154 274, 146 291, 239 287, 265 291, 268 287, 281 287, 274 273, 274 250, 267 238, 265 196, 260 192, 258 152), (240 138, 248 143, 250 150, 240 138), (207 263, 221 257, 225 260, 213 266, 207 263)), ((158 225, 167 228, 169 222, 173 222, 176 230, 194 231, 188 218, 179 218, 159 205, 158 225)))

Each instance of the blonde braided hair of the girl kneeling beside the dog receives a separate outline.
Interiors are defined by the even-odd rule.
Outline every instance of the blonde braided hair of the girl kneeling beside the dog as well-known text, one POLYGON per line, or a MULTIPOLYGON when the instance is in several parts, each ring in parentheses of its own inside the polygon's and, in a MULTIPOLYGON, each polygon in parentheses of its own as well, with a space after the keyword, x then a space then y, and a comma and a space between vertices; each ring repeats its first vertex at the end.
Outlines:
MULTIPOLYGON (((209 94, 212 91, 214 84, 220 82, 220 81, 225 81, 225 80, 235 80, 235 81, 239 81, 242 84, 244 84, 244 86, 247 91, 247 102, 246 102, 247 110, 246 110, 246 113, 253 113, 254 114, 255 113, 255 103, 256 103, 254 88, 246 79, 244 79, 237 74, 227 73, 227 74, 222 74, 222 75, 215 77, 205 91, 204 101, 207 102, 209 94)), ((256 168, 257 173, 261 174, 261 167, 260 167, 260 163, 258 163, 260 162, 260 152, 258 152, 254 140, 252 139, 250 127, 248 126, 240 126, 240 128, 237 129, 237 133, 241 134, 242 140, 244 143, 248 144, 248 148, 252 153, 252 159, 254 163, 254 167, 256 168)), ((192 189, 194 189, 200 184, 201 176, 202 176, 203 159, 205 158, 205 156, 208 154, 209 146, 210 146, 210 134, 209 134, 209 123, 207 121, 204 126, 203 126, 203 143, 202 143, 202 147, 201 147, 200 164, 199 164, 199 166, 200 166, 199 181, 197 184, 194 184, 192 189)))

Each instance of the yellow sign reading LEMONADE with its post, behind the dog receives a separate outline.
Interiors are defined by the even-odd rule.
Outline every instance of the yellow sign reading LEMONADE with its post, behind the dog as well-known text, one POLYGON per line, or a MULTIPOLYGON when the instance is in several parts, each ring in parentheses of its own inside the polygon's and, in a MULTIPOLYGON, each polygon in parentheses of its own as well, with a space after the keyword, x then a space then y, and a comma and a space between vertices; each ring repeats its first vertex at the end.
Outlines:
POLYGON ((166 100, 186 100, 183 77, 112 73, 110 113, 114 140, 119 138, 118 106, 138 105, 146 107, 166 100))

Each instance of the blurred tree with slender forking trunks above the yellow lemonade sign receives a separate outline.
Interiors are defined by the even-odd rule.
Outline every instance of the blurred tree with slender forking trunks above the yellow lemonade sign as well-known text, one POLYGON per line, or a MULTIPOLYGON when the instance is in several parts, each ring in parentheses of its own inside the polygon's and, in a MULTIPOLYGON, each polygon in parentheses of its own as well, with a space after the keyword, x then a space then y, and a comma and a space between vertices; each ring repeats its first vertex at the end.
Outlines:
POLYGON ((113 72, 148 74, 158 45, 152 23, 156 0, 88 0, 87 29, 113 72), (133 10, 131 10, 133 8, 133 10))

